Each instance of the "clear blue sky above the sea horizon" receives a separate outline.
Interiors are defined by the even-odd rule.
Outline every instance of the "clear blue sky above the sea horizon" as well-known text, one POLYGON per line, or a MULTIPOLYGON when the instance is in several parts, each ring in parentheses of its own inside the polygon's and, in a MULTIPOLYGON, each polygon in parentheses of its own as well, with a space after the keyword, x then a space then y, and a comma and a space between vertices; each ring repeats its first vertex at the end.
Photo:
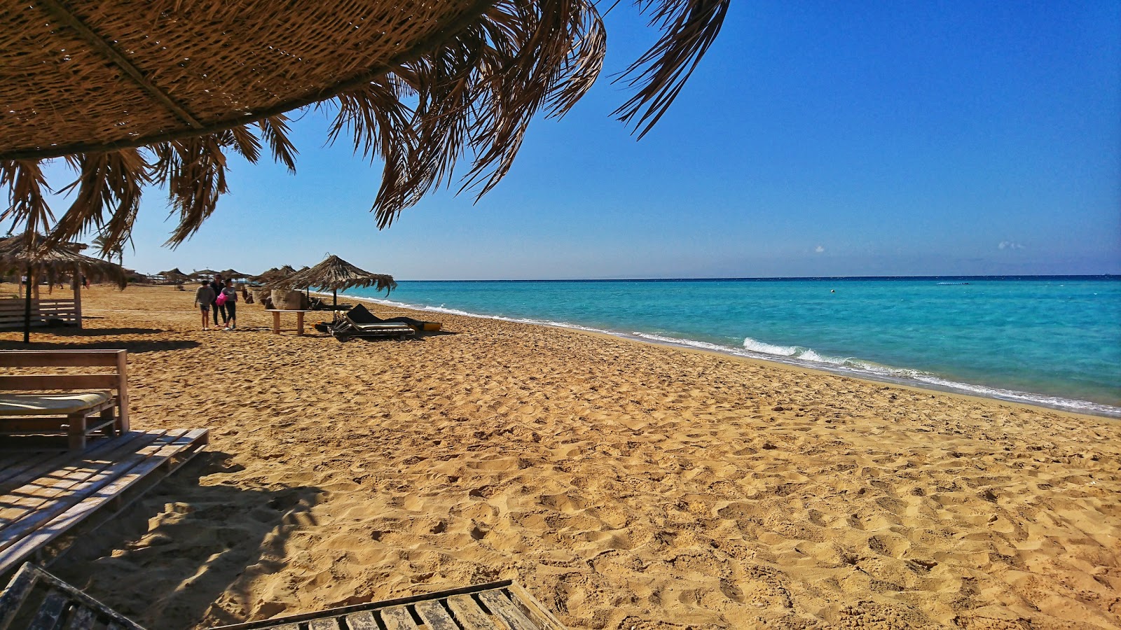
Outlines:
POLYGON ((1121 274, 1121 2, 735 0, 641 141, 611 115, 629 96, 611 78, 655 31, 627 3, 605 22, 595 87, 535 120, 478 203, 441 191, 379 231, 380 163, 324 146, 309 113, 291 124, 297 174, 234 160, 232 192, 177 249, 166 195, 147 191, 126 266, 254 274, 334 253, 398 280, 1121 274))

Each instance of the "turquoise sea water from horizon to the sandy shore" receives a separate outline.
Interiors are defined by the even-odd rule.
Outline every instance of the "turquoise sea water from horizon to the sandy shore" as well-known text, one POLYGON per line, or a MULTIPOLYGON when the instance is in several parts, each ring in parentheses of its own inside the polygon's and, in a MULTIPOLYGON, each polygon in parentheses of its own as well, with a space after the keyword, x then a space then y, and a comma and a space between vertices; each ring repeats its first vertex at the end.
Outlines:
POLYGON ((374 298, 1121 417, 1121 278, 402 281, 374 298))

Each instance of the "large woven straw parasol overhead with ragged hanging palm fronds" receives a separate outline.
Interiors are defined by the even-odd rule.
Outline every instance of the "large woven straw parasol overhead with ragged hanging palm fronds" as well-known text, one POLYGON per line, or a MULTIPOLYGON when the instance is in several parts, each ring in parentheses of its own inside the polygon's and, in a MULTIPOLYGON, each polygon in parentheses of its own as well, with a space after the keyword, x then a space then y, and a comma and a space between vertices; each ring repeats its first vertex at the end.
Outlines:
MULTIPOLYGON (((615 114, 640 133, 665 113, 731 0, 633 0, 660 38, 619 80, 615 114)), ((610 9, 609 9, 610 10, 610 9)), ((228 191, 232 155, 295 169, 287 114, 332 117, 383 160, 379 228, 471 156, 463 188, 490 191, 540 110, 559 117, 599 77, 593 0, 0 0, 0 217, 28 234, 53 214, 43 161, 65 157, 74 202, 52 238, 127 242, 142 189, 167 191, 189 238, 228 191)))

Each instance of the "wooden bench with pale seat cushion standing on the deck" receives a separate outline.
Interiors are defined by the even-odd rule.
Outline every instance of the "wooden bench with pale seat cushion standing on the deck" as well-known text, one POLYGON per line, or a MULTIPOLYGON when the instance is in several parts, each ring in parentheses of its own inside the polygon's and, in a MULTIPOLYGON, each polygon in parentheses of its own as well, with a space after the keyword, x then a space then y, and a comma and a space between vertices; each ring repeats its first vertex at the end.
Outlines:
POLYGON ((98 373, 0 374, 0 435, 66 435, 71 451, 87 435, 129 430, 124 350, 0 351, 0 368, 98 368, 98 373), (109 368, 105 370, 104 368, 109 368))

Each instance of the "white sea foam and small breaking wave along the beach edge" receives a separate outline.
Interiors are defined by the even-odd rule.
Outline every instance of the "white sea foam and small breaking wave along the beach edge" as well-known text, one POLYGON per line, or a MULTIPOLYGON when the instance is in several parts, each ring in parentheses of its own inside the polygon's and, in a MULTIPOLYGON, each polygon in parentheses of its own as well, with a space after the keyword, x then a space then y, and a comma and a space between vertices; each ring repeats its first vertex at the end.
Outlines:
MULTIPOLYGON (((339 297, 344 297, 344 296, 340 294, 339 297)), ((710 343, 705 341, 670 337, 654 333, 643 333, 643 332, 622 333, 619 331, 596 328, 592 326, 582 326, 578 324, 571 324, 567 322, 532 319, 526 317, 506 317, 501 315, 479 315, 476 313, 469 313, 466 311, 460 311, 456 308, 447 308, 444 305, 425 306, 419 304, 408 304, 404 302, 393 302, 389 299, 380 299, 380 298, 372 298, 364 296, 352 296, 352 295, 346 295, 345 297, 348 299, 360 299, 364 302, 371 302, 374 304, 381 304, 385 306, 396 306, 400 308, 410 308, 414 311, 446 313, 450 315, 463 315, 467 317, 481 317, 485 319, 500 319, 502 322, 518 322, 522 324, 537 324, 543 326, 555 326, 560 328, 573 328, 577 331, 603 333, 626 339, 637 339, 667 345, 678 345, 683 348, 695 348, 698 350, 720 352, 723 354, 733 354, 736 356, 747 356, 750 359, 777 361, 780 363, 788 363, 804 368, 825 370, 839 374, 855 376, 855 377, 893 382, 899 385, 926 387, 939 391, 953 391, 957 393, 981 396, 984 398, 995 398, 998 400, 1007 400, 1010 402, 1022 402, 1026 405, 1050 407, 1053 409, 1062 409, 1065 411, 1073 411, 1077 414, 1090 414, 1095 416, 1109 416, 1114 418, 1121 418, 1121 407, 1101 405, 1099 402, 1090 402, 1086 400, 1060 398, 1057 396, 1047 396, 1044 393, 1029 393, 1025 391, 1015 391, 1010 389, 1000 389, 981 385, 963 383, 939 377, 930 372, 924 372, 921 370, 880 365, 871 361, 864 361, 852 356, 846 356, 846 358, 828 356, 819 354, 809 348, 803 348, 799 345, 776 345, 772 343, 767 343, 751 337, 744 337, 742 348, 734 348, 717 343, 710 343)))

